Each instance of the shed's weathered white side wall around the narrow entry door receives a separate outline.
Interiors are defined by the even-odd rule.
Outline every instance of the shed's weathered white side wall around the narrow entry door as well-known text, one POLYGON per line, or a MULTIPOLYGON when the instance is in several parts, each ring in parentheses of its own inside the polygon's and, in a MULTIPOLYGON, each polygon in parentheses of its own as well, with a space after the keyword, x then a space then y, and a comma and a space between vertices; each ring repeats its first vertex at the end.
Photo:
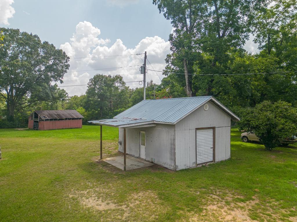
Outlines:
MULTIPOLYGON (((146 160, 151 161, 154 158, 154 163, 169 169, 175 169, 174 125, 157 124, 155 127, 127 128, 127 154, 135 157, 140 156, 139 131, 146 132, 146 160)), ((119 140, 122 141, 122 145, 119 145, 119 151, 123 152, 124 129, 121 128, 119 129, 119 140)))

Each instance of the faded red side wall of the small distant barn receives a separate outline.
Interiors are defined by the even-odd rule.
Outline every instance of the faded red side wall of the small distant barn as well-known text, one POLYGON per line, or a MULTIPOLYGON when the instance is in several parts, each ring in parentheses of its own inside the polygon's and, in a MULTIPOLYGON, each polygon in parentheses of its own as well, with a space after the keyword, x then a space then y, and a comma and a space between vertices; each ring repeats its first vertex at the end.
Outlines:
POLYGON ((56 121, 40 121, 40 130, 52 129, 68 129, 68 128, 81 128, 83 120, 56 120, 56 121))

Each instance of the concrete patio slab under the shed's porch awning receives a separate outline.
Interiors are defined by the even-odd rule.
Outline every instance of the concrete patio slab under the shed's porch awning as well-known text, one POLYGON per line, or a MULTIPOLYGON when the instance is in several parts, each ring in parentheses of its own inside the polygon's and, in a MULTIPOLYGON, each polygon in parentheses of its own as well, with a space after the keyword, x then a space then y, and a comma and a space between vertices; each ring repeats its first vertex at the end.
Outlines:
MULTIPOLYGON (((109 157, 104 159, 106 163, 109 163, 121 170, 124 170, 124 156, 118 157, 109 157)), ((150 163, 146 160, 142 160, 140 158, 132 157, 130 155, 126 156, 126 170, 133 170, 137 168, 147 167, 154 165, 154 163, 150 163)))

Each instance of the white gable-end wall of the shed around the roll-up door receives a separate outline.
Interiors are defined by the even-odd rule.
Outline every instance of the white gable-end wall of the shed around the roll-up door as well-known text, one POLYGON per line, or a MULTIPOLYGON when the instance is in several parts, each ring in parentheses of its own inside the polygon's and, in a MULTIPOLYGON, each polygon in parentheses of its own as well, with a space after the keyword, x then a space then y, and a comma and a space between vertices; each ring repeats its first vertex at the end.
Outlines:
POLYGON ((207 102, 208 110, 203 106, 176 123, 176 170, 196 166, 195 129, 216 127, 215 161, 230 158, 231 118, 212 102, 207 102))

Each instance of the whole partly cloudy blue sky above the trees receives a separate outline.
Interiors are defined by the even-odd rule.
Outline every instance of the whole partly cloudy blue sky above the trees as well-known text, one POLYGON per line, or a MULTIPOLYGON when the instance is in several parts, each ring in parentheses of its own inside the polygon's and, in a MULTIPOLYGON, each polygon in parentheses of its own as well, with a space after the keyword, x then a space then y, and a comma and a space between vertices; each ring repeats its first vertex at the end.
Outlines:
MULTIPOLYGON (((96 73, 119 74, 127 82, 143 80, 142 53, 147 52, 152 65, 147 68, 154 70, 164 69, 170 53, 172 26, 152 0, 0 0, 0 26, 37 34, 66 52, 70 68, 58 86, 69 86, 61 87, 69 96, 84 94, 86 86, 72 85, 87 84, 96 73), (98 57, 126 54, 142 55, 98 57), (81 57, 89 58, 75 59, 81 57)), ((257 52, 252 36, 244 48, 257 52)), ((162 73, 146 74, 147 81, 157 84, 162 78, 162 73)), ((142 87, 138 82, 127 85, 142 87)))

